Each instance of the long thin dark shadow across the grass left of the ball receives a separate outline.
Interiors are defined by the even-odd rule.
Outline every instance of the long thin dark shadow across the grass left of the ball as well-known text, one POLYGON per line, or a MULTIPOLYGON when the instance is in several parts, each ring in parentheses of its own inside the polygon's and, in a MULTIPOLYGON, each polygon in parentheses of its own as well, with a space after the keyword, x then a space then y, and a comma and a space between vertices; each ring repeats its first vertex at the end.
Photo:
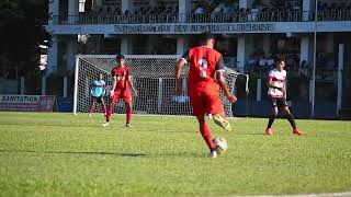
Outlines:
POLYGON ((23 152, 23 153, 44 153, 44 154, 97 154, 97 155, 117 155, 117 157, 146 157, 143 153, 121 153, 121 152, 87 152, 87 151, 33 151, 33 150, 0 150, 0 152, 23 152))

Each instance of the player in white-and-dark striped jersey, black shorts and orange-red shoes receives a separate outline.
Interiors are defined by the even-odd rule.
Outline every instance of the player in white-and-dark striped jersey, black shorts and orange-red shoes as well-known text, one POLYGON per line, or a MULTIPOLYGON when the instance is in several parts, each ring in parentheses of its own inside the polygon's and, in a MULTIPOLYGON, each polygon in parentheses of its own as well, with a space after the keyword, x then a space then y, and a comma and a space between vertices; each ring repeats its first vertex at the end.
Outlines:
POLYGON ((286 119, 290 121, 293 127, 293 134, 302 136, 303 132, 296 128, 295 119, 292 113, 288 109, 286 103, 286 71, 284 70, 285 61, 284 59, 278 59, 276 68, 270 71, 268 74, 267 85, 268 85, 268 95, 272 103, 272 115, 269 118, 268 126, 265 128, 265 134, 269 136, 273 135, 272 125, 278 115, 278 109, 282 108, 285 113, 286 119))

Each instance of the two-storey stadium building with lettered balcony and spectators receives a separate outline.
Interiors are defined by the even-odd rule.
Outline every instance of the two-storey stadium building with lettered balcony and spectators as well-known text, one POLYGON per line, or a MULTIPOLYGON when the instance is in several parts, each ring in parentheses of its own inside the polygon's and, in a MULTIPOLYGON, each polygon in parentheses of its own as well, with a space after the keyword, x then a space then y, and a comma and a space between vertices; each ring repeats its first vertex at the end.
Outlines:
POLYGON ((47 74, 73 71, 76 55, 182 55, 211 31, 226 66, 250 74, 248 97, 237 80, 236 116, 269 115, 264 83, 275 57, 286 59, 297 117, 351 109, 349 0, 53 0, 49 12, 47 74))

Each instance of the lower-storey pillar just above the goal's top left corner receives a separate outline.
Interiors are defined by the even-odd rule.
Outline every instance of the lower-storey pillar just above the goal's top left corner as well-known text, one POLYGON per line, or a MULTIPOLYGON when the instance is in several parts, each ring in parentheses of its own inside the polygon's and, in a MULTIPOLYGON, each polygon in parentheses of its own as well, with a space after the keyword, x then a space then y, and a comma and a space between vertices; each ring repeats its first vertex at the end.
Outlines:
POLYGON ((78 54, 78 37, 77 35, 67 36, 66 45, 66 65, 67 70, 75 70, 76 67, 76 55, 78 54))

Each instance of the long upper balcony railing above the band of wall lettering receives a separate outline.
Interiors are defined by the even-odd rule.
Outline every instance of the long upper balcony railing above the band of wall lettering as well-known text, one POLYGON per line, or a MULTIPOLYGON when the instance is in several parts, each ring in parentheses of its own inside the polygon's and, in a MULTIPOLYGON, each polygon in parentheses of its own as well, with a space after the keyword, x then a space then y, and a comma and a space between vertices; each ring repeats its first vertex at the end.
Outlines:
MULTIPOLYGON (((351 21, 351 10, 320 11, 318 21, 351 21)), ((308 22, 315 12, 263 11, 231 14, 81 14, 55 15, 56 25, 77 24, 159 24, 159 23, 253 23, 253 22, 308 22)))

